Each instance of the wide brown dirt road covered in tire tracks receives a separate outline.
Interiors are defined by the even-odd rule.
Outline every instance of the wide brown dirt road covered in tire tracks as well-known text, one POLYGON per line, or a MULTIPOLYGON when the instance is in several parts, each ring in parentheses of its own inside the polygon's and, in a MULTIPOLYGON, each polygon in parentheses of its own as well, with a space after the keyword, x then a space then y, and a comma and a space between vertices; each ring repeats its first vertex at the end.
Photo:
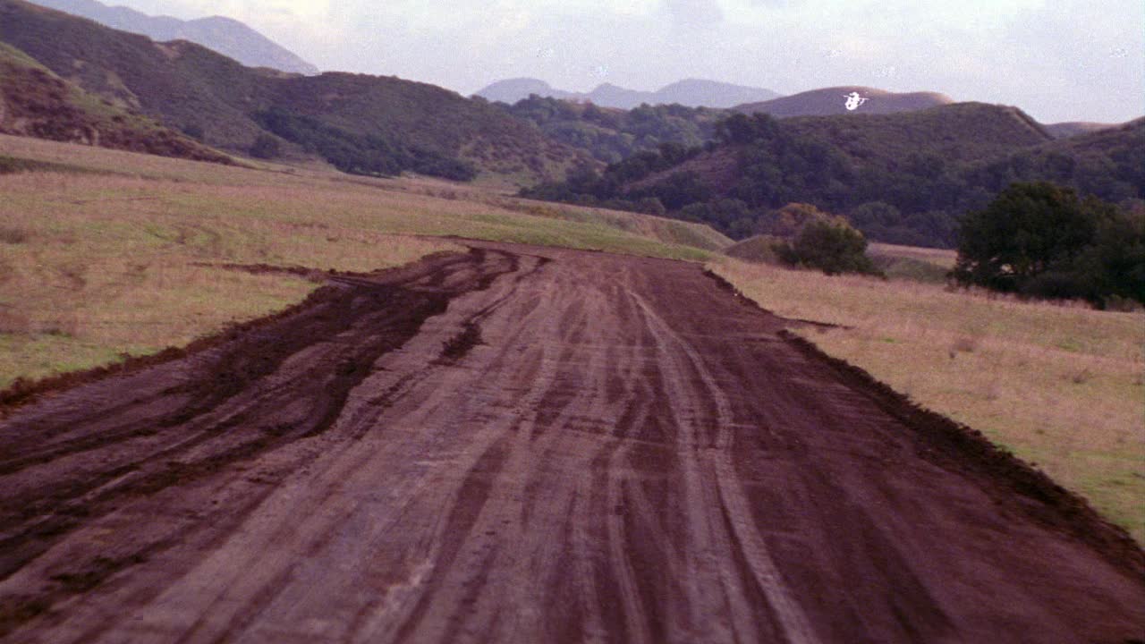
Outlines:
POLYGON ((0 639, 1145 637, 1123 534, 782 327, 602 253, 335 277, 0 421, 0 639))

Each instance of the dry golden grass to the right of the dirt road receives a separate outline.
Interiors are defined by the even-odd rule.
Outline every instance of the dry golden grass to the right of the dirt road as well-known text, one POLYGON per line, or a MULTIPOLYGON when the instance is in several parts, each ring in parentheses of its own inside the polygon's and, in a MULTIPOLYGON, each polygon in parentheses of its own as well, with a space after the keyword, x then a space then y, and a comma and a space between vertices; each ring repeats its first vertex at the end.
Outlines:
POLYGON ((1145 541, 1145 316, 721 260, 713 270, 915 401, 1036 463, 1145 541))

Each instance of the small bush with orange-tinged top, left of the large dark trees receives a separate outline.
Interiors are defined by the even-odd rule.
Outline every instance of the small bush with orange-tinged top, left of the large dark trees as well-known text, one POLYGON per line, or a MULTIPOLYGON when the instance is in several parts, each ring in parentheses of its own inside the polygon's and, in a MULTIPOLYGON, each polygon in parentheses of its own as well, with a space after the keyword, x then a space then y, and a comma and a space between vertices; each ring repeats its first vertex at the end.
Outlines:
POLYGON ((775 245, 779 258, 790 265, 838 273, 878 274, 867 257, 867 238, 842 218, 813 219, 792 242, 775 245))

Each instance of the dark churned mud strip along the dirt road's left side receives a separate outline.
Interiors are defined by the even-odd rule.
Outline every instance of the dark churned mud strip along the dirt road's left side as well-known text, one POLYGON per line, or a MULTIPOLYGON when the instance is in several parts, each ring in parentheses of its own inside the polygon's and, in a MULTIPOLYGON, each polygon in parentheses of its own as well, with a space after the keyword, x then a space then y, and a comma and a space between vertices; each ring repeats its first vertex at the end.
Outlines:
MULTIPOLYGON (((502 259, 500 266, 484 269, 495 275, 515 270, 515 258, 502 259)), ((0 492, 0 578, 71 531, 113 511, 123 498, 187 485, 323 433, 350 390, 369 375, 370 364, 412 337, 423 320, 444 311, 457 294, 442 288, 448 276, 483 264, 498 262, 485 262, 484 252, 475 251, 441 258, 436 269, 414 275, 417 280, 403 280, 401 272, 394 272, 396 283, 385 277, 342 278, 311 297, 295 315, 239 332, 191 356, 184 367, 190 374, 179 377, 183 384, 159 390, 148 382, 152 374, 137 374, 90 386, 101 399, 114 400, 118 394, 127 402, 80 415, 66 403, 48 402, 46 409, 17 415, 0 434, 0 474, 23 473, 33 485, 0 492), (324 346, 316 350, 316 343, 324 346), (308 364, 279 374, 285 361, 301 354, 308 364), (141 383, 145 384, 137 388, 141 383), (165 401, 182 403, 172 408, 165 401), (151 406, 159 413, 139 414, 151 406), (17 449, 21 442, 30 447, 17 449), (39 470, 49 468, 68 471, 62 477, 39 476, 39 470)), ((480 289, 489 281, 481 276, 466 286, 480 289)), ((144 548, 152 549, 153 544, 144 548)), ((112 568, 123 567, 104 559, 93 559, 100 574, 57 573, 53 579, 63 581, 63 590, 77 576, 93 580, 94 587, 112 568)), ((50 599, 33 602, 50 604, 50 599)))

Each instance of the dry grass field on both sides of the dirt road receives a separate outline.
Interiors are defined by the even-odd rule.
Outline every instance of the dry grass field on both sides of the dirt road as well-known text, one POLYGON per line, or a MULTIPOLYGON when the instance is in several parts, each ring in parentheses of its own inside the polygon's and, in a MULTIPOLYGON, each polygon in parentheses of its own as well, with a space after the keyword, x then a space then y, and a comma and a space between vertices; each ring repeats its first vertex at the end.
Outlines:
POLYGON ((718 259, 729 241, 706 227, 440 181, 11 136, 0 136, 2 159, 0 387, 185 345, 317 285, 223 264, 365 272, 459 249, 433 238, 445 235, 710 260, 765 308, 848 327, 804 332, 1037 463, 1145 541, 1139 313, 948 292, 926 282, 942 281, 949 251, 872 244, 892 280, 827 277, 718 259))

